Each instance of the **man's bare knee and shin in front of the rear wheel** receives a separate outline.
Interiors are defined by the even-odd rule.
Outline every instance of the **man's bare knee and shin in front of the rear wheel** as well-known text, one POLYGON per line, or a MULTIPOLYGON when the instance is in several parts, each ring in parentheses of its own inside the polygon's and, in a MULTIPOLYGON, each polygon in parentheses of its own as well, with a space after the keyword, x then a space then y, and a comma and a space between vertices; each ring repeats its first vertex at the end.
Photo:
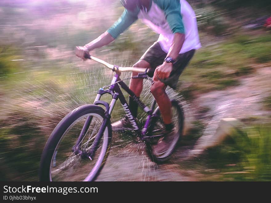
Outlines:
POLYGON ((159 108, 160 112, 163 116, 164 124, 166 125, 167 130, 172 129, 171 117, 172 117, 172 104, 168 95, 166 94, 167 85, 161 81, 154 81, 151 86, 151 92, 154 96, 159 108))

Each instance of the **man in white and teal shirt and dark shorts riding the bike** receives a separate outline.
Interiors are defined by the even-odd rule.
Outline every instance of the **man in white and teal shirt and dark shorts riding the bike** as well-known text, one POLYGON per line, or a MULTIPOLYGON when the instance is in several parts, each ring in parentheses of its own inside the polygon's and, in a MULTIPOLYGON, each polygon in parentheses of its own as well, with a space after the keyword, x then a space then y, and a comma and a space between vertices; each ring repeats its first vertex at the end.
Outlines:
MULTIPOLYGON (((120 18, 101 36, 83 47, 77 47, 75 53, 84 59, 84 52, 102 47, 115 40, 137 19, 160 34, 158 40, 144 53, 134 67, 150 68, 153 77, 151 92, 160 108, 165 124, 165 136, 173 133, 171 121, 171 102, 165 93, 167 86, 176 89, 180 74, 187 66, 196 49, 201 47, 196 16, 185 0, 121 0, 125 10, 120 18)), ((137 75, 132 72, 132 76, 137 75)), ((137 97, 143 88, 143 79, 131 79, 129 88, 137 97)), ((129 106, 134 117, 138 104, 129 97, 129 106)), ((127 117, 112 124, 114 131, 129 127, 127 117)))

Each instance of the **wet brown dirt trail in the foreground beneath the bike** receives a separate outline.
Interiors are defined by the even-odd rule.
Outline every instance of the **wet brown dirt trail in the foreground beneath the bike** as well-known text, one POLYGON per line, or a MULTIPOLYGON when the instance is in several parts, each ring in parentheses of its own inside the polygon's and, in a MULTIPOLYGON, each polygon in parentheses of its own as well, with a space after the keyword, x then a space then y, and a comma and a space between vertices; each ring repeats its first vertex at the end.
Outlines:
POLYGON ((172 161, 156 165, 147 156, 143 143, 130 143, 125 148, 113 147, 97 181, 196 181, 192 172, 180 169, 187 149, 178 149, 172 161))

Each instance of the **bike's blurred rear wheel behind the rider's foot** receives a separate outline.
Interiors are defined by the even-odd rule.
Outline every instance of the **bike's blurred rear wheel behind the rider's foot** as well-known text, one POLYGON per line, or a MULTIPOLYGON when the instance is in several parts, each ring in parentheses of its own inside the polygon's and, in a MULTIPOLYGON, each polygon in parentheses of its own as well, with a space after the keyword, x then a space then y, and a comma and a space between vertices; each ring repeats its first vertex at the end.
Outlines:
MULTIPOLYGON (((156 108, 154 113, 157 117, 153 119, 152 135, 161 135, 165 126, 159 107, 156 108)), ((183 134, 184 112, 182 107, 175 100, 172 100, 172 124, 174 125, 174 133, 170 137, 165 136, 145 142, 146 151, 149 157, 156 163, 162 163, 170 159, 183 134), (164 150, 157 153, 156 149, 160 148, 160 145, 162 144, 166 144, 164 150)))

